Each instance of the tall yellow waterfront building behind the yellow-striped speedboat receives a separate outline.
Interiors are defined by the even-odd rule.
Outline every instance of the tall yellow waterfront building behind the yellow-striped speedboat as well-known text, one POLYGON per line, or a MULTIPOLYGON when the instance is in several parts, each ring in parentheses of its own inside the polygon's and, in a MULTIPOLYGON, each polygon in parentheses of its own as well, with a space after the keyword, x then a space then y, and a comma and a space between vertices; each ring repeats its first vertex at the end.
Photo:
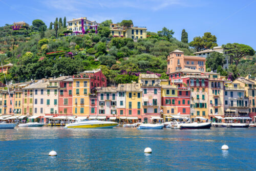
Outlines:
POLYGON ((89 116, 90 114, 90 76, 73 76, 73 114, 77 116, 89 116))

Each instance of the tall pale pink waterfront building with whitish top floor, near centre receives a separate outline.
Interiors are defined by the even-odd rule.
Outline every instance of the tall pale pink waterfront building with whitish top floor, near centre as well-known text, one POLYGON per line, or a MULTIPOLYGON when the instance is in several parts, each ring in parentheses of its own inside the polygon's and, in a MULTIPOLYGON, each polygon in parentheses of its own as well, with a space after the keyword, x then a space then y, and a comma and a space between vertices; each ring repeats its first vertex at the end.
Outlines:
POLYGON ((140 74, 139 83, 142 89, 142 120, 144 122, 162 121, 161 110, 161 87, 160 78, 156 74, 140 74))

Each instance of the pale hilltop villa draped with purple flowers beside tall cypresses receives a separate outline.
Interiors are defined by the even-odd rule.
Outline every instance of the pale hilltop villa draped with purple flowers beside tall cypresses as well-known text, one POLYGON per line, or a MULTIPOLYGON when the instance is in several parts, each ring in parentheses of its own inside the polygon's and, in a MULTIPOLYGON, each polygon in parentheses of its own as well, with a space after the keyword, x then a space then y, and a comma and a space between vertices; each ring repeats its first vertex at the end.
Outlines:
POLYGON ((71 30, 73 32, 82 32, 82 22, 84 30, 90 29, 90 27, 92 27, 91 29, 96 30, 96 26, 98 25, 96 21, 90 21, 87 19, 87 17, 73 18, 67 22, 67 30, 71 30))

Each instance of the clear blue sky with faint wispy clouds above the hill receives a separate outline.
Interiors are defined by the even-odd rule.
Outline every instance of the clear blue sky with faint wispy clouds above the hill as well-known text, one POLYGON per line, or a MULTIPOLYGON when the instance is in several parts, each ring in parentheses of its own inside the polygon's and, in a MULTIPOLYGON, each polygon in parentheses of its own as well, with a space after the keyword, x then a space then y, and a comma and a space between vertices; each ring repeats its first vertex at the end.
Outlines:
POLYGON ((256 0, 0 0, 0 26, 25 21, 32 25, 41 19, 49 27, 56 17, 87 17, 100 23, 132 19, 136 26, 157 32, 163 27, 181 39, 182 29, 188 41, 205 32, 216 35, 219 46, 238 42, 256 50, 256 0))

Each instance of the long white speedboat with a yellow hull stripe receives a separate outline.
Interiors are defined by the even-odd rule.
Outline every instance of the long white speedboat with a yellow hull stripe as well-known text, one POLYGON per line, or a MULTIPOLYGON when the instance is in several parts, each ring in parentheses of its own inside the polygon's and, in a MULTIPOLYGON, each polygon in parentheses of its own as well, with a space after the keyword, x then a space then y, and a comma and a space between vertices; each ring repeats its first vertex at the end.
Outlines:
POLYGON ((81 120, 75 123, 69 123, 65 128, 112 128, 117 125, 118 123, 111 121, 81 120))

